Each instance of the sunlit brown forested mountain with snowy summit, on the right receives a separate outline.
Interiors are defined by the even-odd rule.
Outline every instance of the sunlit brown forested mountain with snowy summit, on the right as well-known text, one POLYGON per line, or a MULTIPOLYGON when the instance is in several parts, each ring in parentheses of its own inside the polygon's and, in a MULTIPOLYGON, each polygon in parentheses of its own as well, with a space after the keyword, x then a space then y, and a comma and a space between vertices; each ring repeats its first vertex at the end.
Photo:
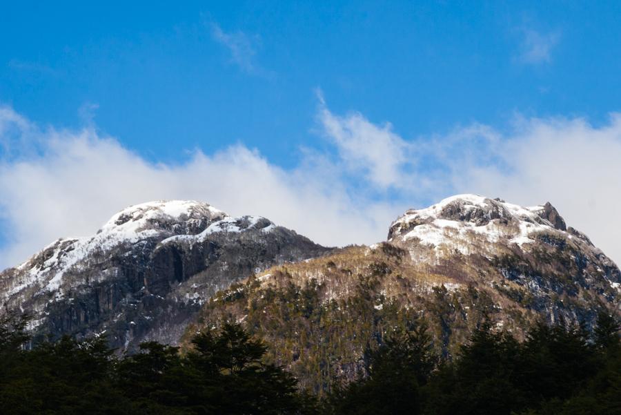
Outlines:
POLYGON ((458 195, 408 211, 388 241, 273 267, 204 305, 188 336, 223 318, 273 345, 317 391, 353 378, 386 331, 421 318, 446 356, 484 319, 523 338, 538 319, 592 327, 620 315, 621 271, 550 204, 458 195))

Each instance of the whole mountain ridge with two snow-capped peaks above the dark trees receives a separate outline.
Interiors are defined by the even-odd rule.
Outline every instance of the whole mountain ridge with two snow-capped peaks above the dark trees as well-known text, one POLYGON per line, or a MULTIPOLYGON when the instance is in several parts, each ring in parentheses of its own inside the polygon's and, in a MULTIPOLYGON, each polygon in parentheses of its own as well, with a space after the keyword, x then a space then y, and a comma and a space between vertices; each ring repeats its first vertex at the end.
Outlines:
POLYGON ((331 249, 260 216, 172 200, 130 206, 2 271, 0 312, 31 313, 39 338, 105 335, 130 352, 242 321, 321 389, 353 378, 388 326, 426 318, 451 356, 484 316, 518 338, 538 319, 590 328, 598 310, 620 314, 620 287, 616 264, 549 202, 455 195, 409 209, 386 241, 331 249))

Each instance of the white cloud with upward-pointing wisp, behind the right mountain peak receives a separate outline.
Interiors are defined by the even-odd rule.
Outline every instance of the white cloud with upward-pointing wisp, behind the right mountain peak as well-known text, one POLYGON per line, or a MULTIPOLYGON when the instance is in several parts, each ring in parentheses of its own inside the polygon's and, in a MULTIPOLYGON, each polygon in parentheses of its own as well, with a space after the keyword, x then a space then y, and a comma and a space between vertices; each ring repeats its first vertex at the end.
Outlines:
POLYGON ((323 103, 319 119, 359 180, 392 186, 412 206, 454 193, 551 202, 569 226, 621 262, 621 114, 598 127, 582 118, 518 117, 509 132, 473 124, 416 143, 390 124, 377 126, 359 113, 339 117, 323 103))

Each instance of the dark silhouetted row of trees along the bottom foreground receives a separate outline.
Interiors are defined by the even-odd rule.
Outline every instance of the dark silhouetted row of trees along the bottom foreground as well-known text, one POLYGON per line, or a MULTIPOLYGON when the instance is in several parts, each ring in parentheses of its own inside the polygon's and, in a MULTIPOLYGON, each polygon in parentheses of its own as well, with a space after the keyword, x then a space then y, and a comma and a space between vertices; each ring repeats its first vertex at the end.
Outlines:
POLYGON ((417 322, 322 398, 237 324, 197 334, 186 354, 147 342, 117 356, 105 338, 31 345, 26 322, 0 320, 1 414, 621 414, 620 326, 604 313, 591 334, 539 324, 524 342, 485 323, 452 360, 417 322))

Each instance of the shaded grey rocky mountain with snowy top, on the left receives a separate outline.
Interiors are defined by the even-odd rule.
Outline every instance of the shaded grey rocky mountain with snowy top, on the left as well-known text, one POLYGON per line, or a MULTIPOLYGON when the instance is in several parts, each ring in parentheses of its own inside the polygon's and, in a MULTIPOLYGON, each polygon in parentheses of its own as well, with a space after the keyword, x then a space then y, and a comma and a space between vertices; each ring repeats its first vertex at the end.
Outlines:
POLYGON ((105 334, 130 351, 145 340, 175 344, 216 291, 326 251, 265 218, 150 202, 117 213, 96 235, 59 239, 1 272, 0 312, 31 313, 39 336, 105 334))

